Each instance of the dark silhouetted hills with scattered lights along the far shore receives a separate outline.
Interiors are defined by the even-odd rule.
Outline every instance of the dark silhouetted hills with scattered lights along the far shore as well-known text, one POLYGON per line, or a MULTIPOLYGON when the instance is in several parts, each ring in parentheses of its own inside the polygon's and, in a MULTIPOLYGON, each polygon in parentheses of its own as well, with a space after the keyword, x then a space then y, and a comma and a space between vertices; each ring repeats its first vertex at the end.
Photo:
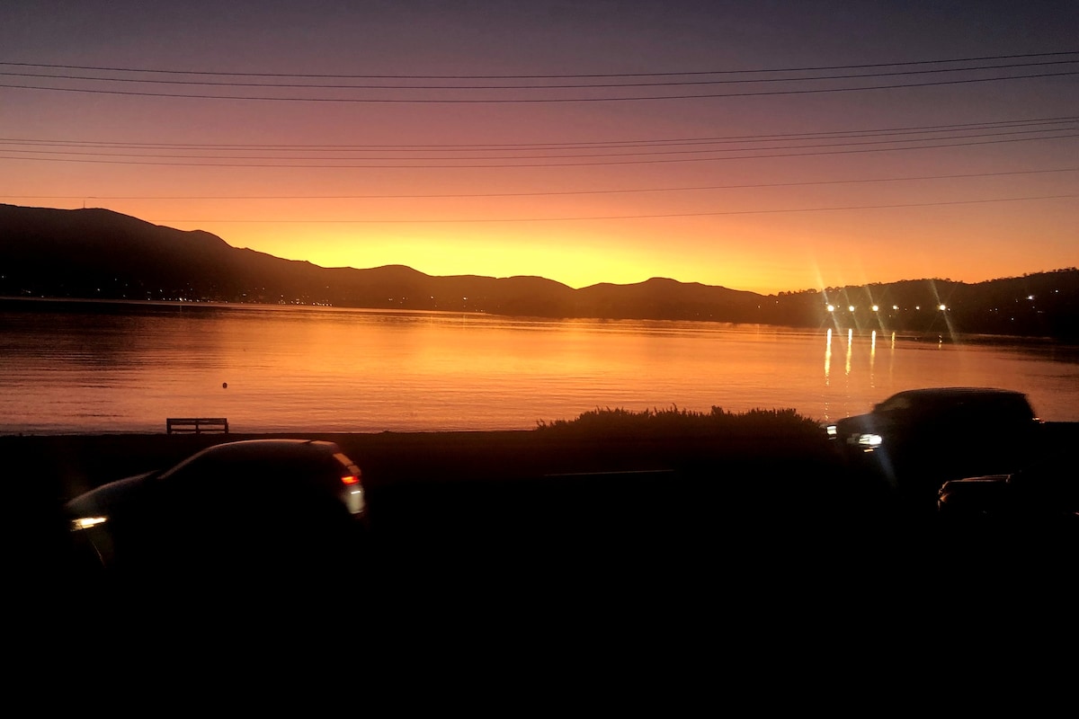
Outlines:
POLYGON ((542 277, 433 277, 402 265, 319 267, 234 248, 209 233, 154 225, 110 210, 14 205, 0 205, 0 295, 792 327, 834 322, 841 328, 921 333, 1079 337, 1079 271, 1074 267, 974 285, 921 279, 767 296, 664 278, 574 290, 542 277), (831 312, 829 303, 834 306, 831 312), (946 307, 943 312, 941 304, 946 307))

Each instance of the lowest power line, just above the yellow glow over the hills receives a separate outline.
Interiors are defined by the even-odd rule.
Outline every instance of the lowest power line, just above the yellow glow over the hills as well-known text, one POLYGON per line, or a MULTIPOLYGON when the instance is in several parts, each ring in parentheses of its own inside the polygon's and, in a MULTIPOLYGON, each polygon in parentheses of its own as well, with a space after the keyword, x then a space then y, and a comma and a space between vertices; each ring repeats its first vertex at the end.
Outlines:
POLYGON ((728 215, 781 215, 794 212, 837 212, 847 210, 879 210, 905 209, 912 207, 943 207, 947 205, 986 205, 993 203, 1020 203, 1042 199, 1073 199, 1070 195, 1039 195, 1035 197, 994 197, 988 199, 955 199, 933 203, 900 203, 896 205, 848 205, 839 207, 798 207, 768 210, 722 210, 715 212, 671 212, 664 215, 610 215, 597 217, 559 217, 559 218, 504 218, 504 219, 462 219, 462 220, 152 220, 154 223, 245 223, 245 224, 464 224, 464 223, 500 223, 500 222, 584 222, 596 220, 657 220, 688 217, 721 217, 728 215))

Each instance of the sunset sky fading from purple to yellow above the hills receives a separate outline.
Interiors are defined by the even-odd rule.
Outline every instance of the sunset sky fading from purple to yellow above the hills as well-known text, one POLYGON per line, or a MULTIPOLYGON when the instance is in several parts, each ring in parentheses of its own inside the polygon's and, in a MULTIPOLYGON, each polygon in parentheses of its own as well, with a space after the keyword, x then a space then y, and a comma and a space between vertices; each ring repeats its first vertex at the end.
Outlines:
POLYGON ((1079 3, 5 0, 0 203, 763 293, 1079 265, 1079 3))

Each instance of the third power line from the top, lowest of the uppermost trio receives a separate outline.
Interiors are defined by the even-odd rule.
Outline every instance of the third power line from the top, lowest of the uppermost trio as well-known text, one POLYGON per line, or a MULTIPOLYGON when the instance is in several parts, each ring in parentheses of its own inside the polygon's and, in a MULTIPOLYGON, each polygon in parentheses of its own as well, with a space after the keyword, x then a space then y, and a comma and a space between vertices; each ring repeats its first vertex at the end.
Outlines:
POLYGON ((815 87, 804 89, 777 89, 741 93, 709 93, 698 95, 636 95, 615 97, 531 97, 531 98, 359 98, 359 97, 288 97, 288 96, 256 96, 256 95, 206 95, 197 93, 150 93, 140 91, 100 89, 88 87, 45 87, 41 85, 0 84, 9 89, 36 89, 57 93, 86 93, 92 95, 121 95, 128 97, 167 97, 200 100, 244 100, 269 102, 320 102, 320 103, 374 103, 374 105, 522 105, 554 102, 627 102, 644 100, 693 100, 720 99, 732 97, 775 97, 783 95, 818 95, 825 93, 849 93, 874 89, 902 89, 911 87, 932 87, 941 85, 961 85, 985 82, 1001 82, 1008 80, 1034 80, 1043 78, 1062 78, 1079 74, 1079 70, 1065 72, 1041 72, 1023 75, 1006 75, 999 78, 967 78, 956 80, 938 80, 933 82, 898 83, 891 85, 862 85, 853 87, 815 87))

